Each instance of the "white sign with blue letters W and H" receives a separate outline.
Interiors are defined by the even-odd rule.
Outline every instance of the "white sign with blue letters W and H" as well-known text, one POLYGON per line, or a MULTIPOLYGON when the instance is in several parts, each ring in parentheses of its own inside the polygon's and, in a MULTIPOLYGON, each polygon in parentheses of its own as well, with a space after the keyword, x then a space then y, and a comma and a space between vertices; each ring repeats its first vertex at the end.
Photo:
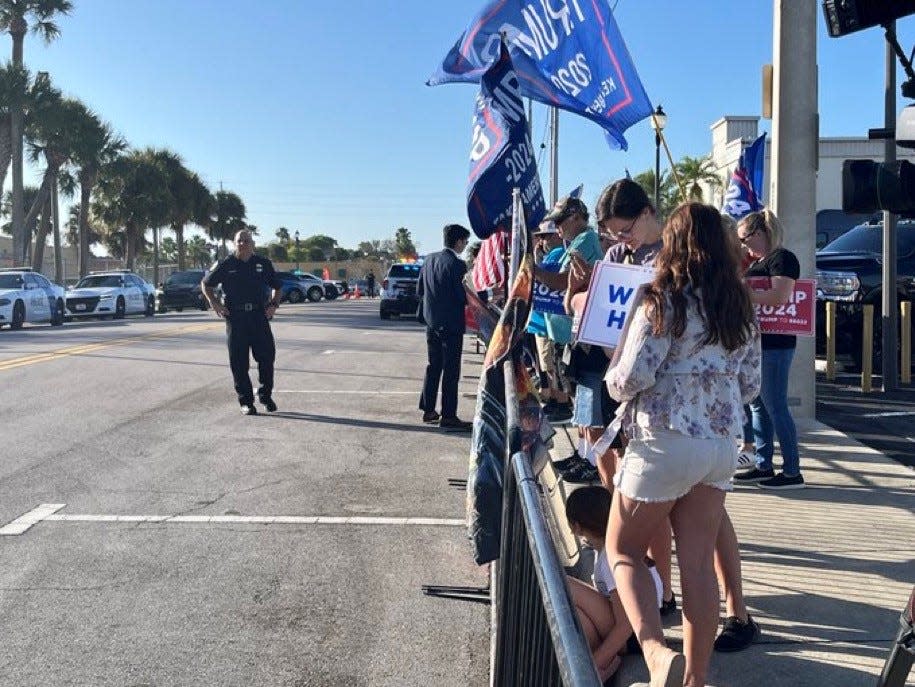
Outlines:
POLYGON ((653 267, 600 261, 594 265, 578 341, 616 348, 639 287, 654 279, 653 267))

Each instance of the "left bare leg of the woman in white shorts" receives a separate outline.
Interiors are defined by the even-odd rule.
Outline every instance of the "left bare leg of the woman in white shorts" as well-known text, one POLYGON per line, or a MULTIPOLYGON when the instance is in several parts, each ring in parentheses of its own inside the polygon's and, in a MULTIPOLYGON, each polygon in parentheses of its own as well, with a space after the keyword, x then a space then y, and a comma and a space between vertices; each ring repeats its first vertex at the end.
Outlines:
POLYGON ((676 503, 640 502, 614 491, 607 523, 607 557, 617 592, 653 676, 666 669, 672 652, 664 643, 657 592, 645 565, 645 553, 649 540, 676 503))

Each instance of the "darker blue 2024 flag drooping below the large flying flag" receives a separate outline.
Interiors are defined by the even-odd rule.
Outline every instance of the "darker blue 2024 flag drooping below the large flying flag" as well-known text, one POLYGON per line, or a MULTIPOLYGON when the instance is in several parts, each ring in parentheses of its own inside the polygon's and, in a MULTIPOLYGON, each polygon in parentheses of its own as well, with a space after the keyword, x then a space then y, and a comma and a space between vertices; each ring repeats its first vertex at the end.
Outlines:
POLYGON ((479 238, 511 228, 515 187, 521 189, 526 226, 536 227, 546 215, 546 204, 518 77, 503 47, 480 81, 473 120, 467 217, 479 238))

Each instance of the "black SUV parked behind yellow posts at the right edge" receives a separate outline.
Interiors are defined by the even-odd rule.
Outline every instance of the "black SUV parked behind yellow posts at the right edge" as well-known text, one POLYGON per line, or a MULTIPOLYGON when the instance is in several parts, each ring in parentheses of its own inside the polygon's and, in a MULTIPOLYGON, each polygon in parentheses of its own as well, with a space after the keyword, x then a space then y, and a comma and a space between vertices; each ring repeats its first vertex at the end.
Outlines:
MULTIPOLYGON (((899 301, 915 300, 915 222, 896 228, 896 292, 899 301)), ((835 301, 836 352, 851 353, 861 367, 862 308, 874 305, 874 369, 882 366, 880 331, 883 298, 883 223, 859 224, 827 244, 817 261, 817 349, 826 346, 826 301, 835 301)))

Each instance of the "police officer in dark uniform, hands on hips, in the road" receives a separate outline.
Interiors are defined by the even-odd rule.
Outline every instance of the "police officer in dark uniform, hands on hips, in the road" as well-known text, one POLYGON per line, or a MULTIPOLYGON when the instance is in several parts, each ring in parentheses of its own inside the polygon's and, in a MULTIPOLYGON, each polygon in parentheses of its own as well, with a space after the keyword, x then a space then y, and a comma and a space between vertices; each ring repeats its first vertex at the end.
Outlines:
POLYGON ((269 320, 279 306, 282 286, 273 263, 254 254, 251 232, 242 230, 235 235, 235 253, 220 262, 200 285, 213 312, 226 320, 229 366, 242 414, 257 415, 248 377, 249 349, 257 361, 258 400, 272 413, 276 410, 272 397, 276 345, 269 320), (225 305, 216 297, 218 284, 222 284, 225 305))

